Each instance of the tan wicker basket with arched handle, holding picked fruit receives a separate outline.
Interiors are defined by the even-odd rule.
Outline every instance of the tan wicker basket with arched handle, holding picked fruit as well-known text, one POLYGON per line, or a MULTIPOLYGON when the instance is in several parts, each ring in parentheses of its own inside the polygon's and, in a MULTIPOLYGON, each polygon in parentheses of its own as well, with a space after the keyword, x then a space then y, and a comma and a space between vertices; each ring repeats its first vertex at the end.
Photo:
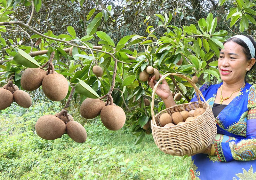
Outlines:
POLYGON ((151 104, 151 129, 156 146, 166 154, 173 156, 191 155, 200 152, 202 149, 208 147, 214 141, 217 133, 217 127, 215 119, 212 113, 212 109, 209 104, 206 103, 202 92, 196 87, 196 85, 185 75, 168 73, 161 77, 156 83, 152 93, 151 104), (165 77, 169 75, 176 75, 178 77, 188 80, 188 82, 195 88, 196 97, 198 102, 191 102, 181 105, 175 105, 164 109, 160 113, 154 114, 154 99, 156 88, 165 77), (201 96, 204 100, 200 100, 201 96), (190 122, 186 122, 181 125, 172 126, 170 128, 161 127, 159 118, 162 113, 169 113, 172 115, 174 112, 181 112, 183 110, 190 111, 197 108, 204 108, 205 112, 198 116, 196 119, 190 122))

